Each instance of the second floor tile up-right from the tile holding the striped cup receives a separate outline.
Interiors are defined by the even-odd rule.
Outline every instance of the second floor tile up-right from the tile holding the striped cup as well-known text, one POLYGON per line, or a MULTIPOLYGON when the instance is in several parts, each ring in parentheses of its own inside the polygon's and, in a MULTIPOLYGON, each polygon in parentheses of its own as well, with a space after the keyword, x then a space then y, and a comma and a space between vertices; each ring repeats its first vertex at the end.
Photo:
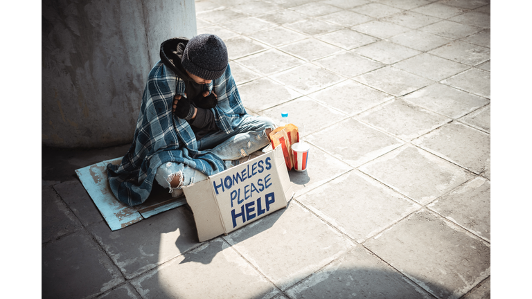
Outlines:
POLYGON ((451 120, 401 99, 366 111, 359 118, 404 140, 416 138, 451 120))

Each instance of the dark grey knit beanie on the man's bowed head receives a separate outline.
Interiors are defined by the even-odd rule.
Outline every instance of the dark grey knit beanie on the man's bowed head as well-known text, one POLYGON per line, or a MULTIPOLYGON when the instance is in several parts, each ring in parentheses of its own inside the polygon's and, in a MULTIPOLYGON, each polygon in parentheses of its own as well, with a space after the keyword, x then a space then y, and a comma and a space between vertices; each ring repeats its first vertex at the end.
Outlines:
POLYGON ((196 35, 186 44, 181 65, 193 75, 205 80, 220 78, 227 68, 227 48, 220 37, 196 35))

